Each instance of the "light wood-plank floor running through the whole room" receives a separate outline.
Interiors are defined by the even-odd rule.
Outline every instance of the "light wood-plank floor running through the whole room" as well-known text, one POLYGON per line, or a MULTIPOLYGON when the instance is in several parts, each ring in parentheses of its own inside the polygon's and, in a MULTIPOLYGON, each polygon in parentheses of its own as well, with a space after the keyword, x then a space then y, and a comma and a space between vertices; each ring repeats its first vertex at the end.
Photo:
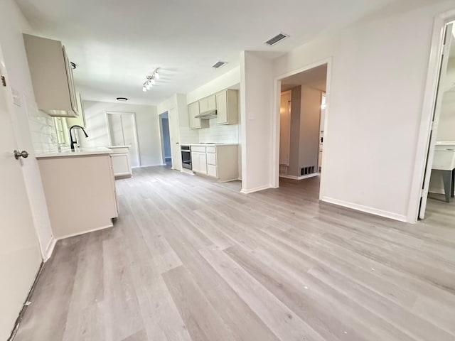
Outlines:
POLYGON ((318 178, 117 188, 114 228, 58 242, 16 341, 455 340, 454 224, 319 202, 318 178))

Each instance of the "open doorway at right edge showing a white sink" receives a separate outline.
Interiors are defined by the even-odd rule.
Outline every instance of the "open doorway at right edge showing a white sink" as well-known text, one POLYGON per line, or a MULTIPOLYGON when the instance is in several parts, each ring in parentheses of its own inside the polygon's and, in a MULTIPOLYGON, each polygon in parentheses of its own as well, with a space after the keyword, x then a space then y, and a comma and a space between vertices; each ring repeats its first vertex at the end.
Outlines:
POLYGON ((455 226, 455 22, 444 29, 419 218, 455 226))

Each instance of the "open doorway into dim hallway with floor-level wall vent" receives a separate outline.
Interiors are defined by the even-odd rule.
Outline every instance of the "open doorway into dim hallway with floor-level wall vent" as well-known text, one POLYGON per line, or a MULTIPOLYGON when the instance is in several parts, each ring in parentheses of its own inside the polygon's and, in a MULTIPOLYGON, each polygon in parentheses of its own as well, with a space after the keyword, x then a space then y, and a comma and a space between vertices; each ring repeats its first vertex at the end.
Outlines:
MULTIPOLYGON (((328 64, 281 79, 279 105, 279 185, 301 181, 319 197, 323 168, 328 64)), ((303 183, 302 183, 303 184, 303 183)))

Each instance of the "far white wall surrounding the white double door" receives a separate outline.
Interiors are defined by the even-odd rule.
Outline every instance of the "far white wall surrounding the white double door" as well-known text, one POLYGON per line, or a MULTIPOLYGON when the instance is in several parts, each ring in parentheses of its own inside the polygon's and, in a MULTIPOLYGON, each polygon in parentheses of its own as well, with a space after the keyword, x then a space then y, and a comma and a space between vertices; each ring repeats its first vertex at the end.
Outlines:
POLYGON ((159 120, 156 107, 127 103, 109 103, 83 101, 88 139, 82 134, 80 146, 109 146, 106 112, 134 112, 136 114, 137 140, 141 166, 157 166, 163 164, 161 157, 161 140, 159 120))

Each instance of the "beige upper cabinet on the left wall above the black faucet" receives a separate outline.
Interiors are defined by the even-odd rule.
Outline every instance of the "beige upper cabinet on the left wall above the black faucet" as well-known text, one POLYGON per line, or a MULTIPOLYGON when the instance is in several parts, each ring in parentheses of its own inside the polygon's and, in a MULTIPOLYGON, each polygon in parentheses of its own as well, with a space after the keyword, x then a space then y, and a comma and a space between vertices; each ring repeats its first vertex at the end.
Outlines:
POLYGON ((23 35, 38 109, 53 117, 77 117, 73 70, 58 40, 23 35))

